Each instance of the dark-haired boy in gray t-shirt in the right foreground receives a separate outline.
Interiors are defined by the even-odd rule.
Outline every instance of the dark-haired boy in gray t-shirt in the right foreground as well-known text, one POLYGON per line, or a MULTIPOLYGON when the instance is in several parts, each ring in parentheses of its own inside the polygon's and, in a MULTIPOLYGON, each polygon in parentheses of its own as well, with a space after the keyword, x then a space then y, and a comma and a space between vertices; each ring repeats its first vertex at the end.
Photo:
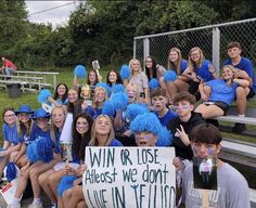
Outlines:
MULTIPOLYGON (((249 208, 248 184, 244 177, 232 166, 220 160, 222 136, 219 130, 210 123, 196 126, 191 134, 191 147, 195 157, 215 157, 217 160, 217 190, 209 192, 209 207, 249 208)), ((174 161, 176 167, 180 161, 174 161)), ((187 166, 182 178, 182 202, 187 208, 201 207, 202 194, 194 188, 193 164, 187 166)))

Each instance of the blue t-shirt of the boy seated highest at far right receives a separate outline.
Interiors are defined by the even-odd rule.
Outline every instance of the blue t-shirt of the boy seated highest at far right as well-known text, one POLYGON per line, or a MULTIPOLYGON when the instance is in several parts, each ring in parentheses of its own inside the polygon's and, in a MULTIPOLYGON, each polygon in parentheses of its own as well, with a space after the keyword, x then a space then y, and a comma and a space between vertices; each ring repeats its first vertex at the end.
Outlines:
POLYGON ((247 75, 252 78, 253 80, 253 90, 254 92, 256 92, 256 80, 255 80, 255 73, 254 73, 254 66, 251 60, 246 58, 246 57, 241 57, 241 61, 238 65, 233 65, 232 64, 232 60, 226 60, 223 62, 223 66, 226 65, 232 65, 235 68, 239 68, 241 70, 245 70, 247 73, 247 75))

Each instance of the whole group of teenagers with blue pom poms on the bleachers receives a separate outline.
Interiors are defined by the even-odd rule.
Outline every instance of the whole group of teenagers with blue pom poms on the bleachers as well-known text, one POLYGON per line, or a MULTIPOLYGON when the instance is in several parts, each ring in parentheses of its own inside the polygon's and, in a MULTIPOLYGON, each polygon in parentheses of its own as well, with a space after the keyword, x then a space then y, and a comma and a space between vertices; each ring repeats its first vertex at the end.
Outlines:
POLYGON ((179 49, 172 48, 168 70, 148 56, 143 72, 140 62, 132 58, 129 72, 125 67, 120 73, 111 70, 106 83, 101 82, 95 69, 88 73, 86 84, 79 83, 79 73, 71 89, 59 83, 53 95, 43 94, 51 112, 41 107, 34 112, 26 104, 16 110, 5 108, 0 178, 9 162, 21 170, 8 207, 21 207, 28 180, 34 194, 29 208, 43 207, 42 191, 51 207, 87 207, 82 194, 86 146, 174 146, 176 158, 170 162, 177 168, 177 179, 181 179, 177 180, 177 187, 182 190, 177 204, 185 207, 202 205, 202 194, 193 186, 193 157, 215 157, 218 188, 209 193, 209 206, 251 207, 246 180, 218 158, 222 138, 215 126, 206 122, 225 115, 235 99, 238 114, 244 116, 246 99, 255 94, 253 64, 241 56, 241 51, 239 42, 228 44, 229 60, 220 77, 200 48, 191 49, 188 61, 179 49), (195 107, 199 100, 202 102, 195 107), (68 159, 61 148, 67 115, 73 117, 68 159), (42 140, 52 155, 35 159, 30 146, 42 140))

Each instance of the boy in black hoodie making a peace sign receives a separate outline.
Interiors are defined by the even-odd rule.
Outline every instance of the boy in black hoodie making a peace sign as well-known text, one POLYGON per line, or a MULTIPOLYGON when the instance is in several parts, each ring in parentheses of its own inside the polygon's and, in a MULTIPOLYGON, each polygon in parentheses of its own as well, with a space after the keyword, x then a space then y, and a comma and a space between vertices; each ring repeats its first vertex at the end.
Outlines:
POLYGON ((190 146, 191 130, 204 121, 202 114, 195 113, 195 98, 189 92, 179 92, 174 98, 174 108, 178 117, 168 122, 167 128, 174 135, 172 145, 175 146, 176 156, 182 159, 192 160, 193 153, 190 146))

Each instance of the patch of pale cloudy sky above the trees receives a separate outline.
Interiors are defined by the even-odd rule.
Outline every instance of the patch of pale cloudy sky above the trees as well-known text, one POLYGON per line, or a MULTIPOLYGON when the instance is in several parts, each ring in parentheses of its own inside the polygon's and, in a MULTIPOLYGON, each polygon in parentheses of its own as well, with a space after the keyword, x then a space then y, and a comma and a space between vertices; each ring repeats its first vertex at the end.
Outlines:
POLYGON ((28 20, 33 23, 51 23, 53 28, 65 25, 72 11, 75 11, 78 1, 25 1, 27 5, 28 20), (61 5, 61 6, 60 6, 61 5), (63 5, 63 6, 62 6, 63 5), (42 12, 55 6, 60 6, 50 11, 42 12), (38 14, 33 14, 41 12, 38 14))

